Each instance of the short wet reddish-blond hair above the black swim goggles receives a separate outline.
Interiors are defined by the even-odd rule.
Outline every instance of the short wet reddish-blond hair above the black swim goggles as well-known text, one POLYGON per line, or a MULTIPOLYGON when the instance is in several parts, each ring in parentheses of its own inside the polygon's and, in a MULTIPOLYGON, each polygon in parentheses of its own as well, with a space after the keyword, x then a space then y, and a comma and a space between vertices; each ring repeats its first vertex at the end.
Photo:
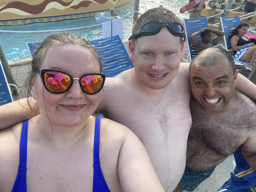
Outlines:
MULTIPOLYGON (((134 34, 137 30, 139 30, 142 25, 148 22, 179 22, 182 23, 181 20, 177 17, 177 15, 160 5, 159 7, 155 7, 147 10, 143 13, 133 24, 132 34, 134 34)), ((181 36, 181 39, 184 37, 184 34, 181 36)), ((181 41, 182 42, 182 41, 181 41)))

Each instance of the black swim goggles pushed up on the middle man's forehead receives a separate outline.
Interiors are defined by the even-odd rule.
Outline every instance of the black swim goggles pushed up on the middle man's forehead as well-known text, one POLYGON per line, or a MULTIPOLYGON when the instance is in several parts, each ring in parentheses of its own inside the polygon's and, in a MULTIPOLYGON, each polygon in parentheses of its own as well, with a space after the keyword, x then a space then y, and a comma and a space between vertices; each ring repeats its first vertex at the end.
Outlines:
POLYGON ((129 41, 131 39, 136 39, 137 37, 140 37, 140 36, 155 35, 155 34, 159 33, 159 31, 161 30, 161 28, 163 26, 166 26, 168 31, 174 36, 181 36, 181 37, 184 36, 184 28, 178 22, 174 21, 171 23, 166 23, 166 22, 152 22, 151 21, 151 22, 148 22, 148 23, 145 23, 144 25, 142 25, 142 27, 129 38, 129 41))

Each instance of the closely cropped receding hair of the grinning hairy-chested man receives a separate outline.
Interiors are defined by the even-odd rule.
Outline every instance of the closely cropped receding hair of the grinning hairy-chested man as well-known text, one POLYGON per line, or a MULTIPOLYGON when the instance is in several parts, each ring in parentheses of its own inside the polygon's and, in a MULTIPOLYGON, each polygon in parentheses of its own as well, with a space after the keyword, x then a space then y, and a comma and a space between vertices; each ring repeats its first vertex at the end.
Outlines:
POLYGON ((228 51, 217 48, 217 47, 211 47, 211 48, 202 50, 198 54, 196 54, 196 56, 190 62, 190 65, 188 68, 189 73, 190 73, 191 66, 196 60, 200 59, 200 63, 197 62, 200 66, 215 66, 217 64, 216 58, 220 58, 220 55, 222 55, 228 60, 230 67, 233 71, 233 74, 235 74, 236 65, 232 55, 228 51))

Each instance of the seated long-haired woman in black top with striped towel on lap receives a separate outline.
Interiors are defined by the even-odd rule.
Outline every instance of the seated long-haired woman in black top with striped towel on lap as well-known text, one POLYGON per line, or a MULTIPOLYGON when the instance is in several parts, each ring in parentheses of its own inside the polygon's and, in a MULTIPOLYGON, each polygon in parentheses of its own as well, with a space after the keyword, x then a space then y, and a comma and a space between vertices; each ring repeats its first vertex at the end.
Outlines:
POLYGON ((242 62, 249 62, 247 67, 253 68, 256 60, 256 47, 254 43, 251 43, 249 37, 245 35, 248 28, 249 25, 247 23, 241 23, 232 31, 229 38, 235 58, 242 62))

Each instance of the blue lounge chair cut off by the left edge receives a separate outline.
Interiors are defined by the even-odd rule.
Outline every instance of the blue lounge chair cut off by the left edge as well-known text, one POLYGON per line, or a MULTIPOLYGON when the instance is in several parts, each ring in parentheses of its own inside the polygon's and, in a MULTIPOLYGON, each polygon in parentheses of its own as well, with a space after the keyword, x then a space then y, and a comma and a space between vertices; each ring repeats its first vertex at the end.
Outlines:
POLYGON ((0 61, 0 105, 4 105, 10 102, 13 102, 13 98, 7 85, 4 69, 0 61))

